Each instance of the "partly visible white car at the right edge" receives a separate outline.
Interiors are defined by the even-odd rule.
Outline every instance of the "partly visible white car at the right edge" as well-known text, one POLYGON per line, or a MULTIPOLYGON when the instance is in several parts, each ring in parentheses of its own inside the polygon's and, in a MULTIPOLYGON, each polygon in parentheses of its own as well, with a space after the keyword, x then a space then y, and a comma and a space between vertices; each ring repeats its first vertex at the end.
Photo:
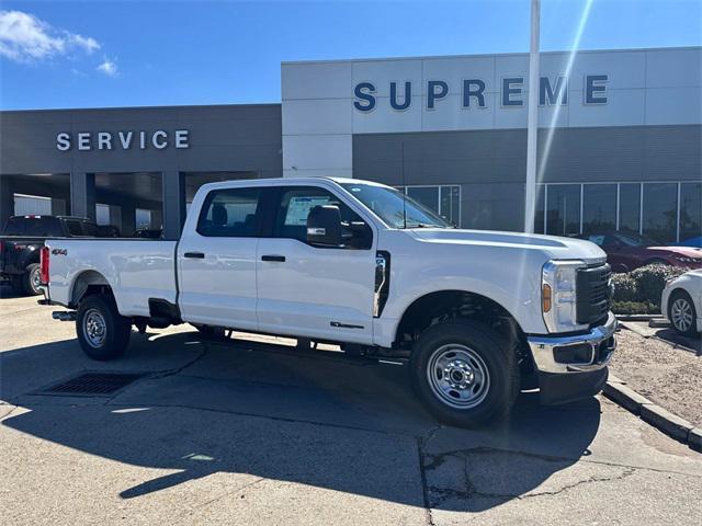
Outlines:
POLYGON ((702 270, 686 272, 666 284, 660 310, 686 336, 702 332, 702 270))

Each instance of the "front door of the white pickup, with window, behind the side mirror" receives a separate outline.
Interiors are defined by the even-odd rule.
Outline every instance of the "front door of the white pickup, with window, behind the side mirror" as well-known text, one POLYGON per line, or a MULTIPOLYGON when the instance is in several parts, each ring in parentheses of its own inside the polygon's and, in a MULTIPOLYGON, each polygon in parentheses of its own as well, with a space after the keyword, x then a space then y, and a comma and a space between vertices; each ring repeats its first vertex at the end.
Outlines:
POLYGON ((278 191, 271 237, 258 247, 260 330, 371 343, 376 236, 369 221, 322 187, 278 191), (307 243, 307 215, 317 205, 337 205, 342 225, 354 222, 343 247, 307 243))

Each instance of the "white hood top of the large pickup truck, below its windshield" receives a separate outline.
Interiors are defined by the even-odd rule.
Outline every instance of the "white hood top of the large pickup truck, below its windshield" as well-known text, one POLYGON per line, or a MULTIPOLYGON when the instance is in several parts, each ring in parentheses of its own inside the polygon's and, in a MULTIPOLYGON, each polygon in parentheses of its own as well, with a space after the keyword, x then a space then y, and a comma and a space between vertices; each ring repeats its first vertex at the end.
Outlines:
POLYGON ((540 251, 552 260, 582 260, 588 264, 604 263, 604 261, 607 261, 607 254, 602 249, 582 239, 454 228, 416 228, 410 231, 416 239, 429 243, 540 251))

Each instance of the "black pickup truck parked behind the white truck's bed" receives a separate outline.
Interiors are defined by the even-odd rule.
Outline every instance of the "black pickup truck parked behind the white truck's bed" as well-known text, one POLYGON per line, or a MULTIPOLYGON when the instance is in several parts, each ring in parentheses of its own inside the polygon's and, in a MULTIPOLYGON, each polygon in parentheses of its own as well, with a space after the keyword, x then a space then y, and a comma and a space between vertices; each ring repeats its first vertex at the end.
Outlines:
POLYGON ((50 238, 101 237, 100 227, 83 217, 13 216, 0 236, 0 281, 18 293, 41 294, 39 249, 50 238))

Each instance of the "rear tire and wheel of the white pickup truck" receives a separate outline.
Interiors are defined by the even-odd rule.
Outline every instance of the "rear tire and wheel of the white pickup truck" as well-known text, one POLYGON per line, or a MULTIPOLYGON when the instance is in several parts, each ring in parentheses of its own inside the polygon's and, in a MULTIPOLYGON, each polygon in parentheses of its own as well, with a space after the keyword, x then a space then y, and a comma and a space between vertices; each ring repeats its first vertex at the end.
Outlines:
POLYGON ((92 359, 114 359, 127 348, 132 321, 120 315, 111 296, 88 296, 78 306, 76 334, 83 352, 92 359))

